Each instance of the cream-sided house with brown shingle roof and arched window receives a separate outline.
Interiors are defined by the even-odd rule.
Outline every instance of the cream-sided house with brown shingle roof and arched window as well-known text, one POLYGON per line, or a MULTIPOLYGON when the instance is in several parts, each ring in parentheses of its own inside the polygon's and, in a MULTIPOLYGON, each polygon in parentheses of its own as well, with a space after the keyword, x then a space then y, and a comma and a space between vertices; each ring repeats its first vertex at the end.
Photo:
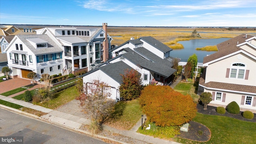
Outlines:
POLYGON ((218 52, 204 57, 198 94, 212 93, 210 104, 256 110, 256 37, 241 34, 217 45, 218 52))

